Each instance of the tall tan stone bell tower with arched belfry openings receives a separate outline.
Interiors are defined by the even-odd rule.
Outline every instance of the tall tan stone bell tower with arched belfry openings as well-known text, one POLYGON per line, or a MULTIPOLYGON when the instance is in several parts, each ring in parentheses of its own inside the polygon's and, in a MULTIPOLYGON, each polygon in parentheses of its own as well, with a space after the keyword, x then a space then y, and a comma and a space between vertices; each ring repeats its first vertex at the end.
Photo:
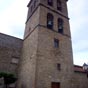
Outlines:
POLYGON ((72 73, 67 0, 31 0, 18 88, 71 88, 72 73))

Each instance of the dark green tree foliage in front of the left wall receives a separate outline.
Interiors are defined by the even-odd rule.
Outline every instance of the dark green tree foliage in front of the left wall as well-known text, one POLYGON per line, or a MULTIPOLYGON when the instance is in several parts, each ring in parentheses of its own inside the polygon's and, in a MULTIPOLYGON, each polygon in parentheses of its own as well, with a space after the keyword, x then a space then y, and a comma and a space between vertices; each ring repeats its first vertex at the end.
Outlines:
POLYGON ((4 78, 4 83, 5 84, 11 84, 16 82, 17 78, 15 77, 14 74, 12 73, 6 73, 6 72, 0 72, 0 78, 4 78))

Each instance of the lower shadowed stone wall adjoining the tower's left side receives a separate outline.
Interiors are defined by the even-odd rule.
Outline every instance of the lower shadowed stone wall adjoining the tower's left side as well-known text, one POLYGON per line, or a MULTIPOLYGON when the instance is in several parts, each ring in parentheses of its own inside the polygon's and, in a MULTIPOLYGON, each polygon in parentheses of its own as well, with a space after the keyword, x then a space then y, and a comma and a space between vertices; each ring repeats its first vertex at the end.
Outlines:
POLYGON ((22 43, 21 39, 0 33, 0 72, 17 73, 22 43))

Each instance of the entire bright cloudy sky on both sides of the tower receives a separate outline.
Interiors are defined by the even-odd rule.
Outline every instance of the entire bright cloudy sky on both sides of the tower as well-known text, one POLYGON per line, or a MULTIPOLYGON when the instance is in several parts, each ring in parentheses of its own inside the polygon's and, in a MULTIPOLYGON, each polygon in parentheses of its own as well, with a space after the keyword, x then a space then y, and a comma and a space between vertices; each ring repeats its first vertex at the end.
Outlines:
MULTIPOLYGON (((0 32, 23 38, 29 0, 0 0, 0 32)), ((74 64, 88 63, 88 0, 69 0, 74 64)))

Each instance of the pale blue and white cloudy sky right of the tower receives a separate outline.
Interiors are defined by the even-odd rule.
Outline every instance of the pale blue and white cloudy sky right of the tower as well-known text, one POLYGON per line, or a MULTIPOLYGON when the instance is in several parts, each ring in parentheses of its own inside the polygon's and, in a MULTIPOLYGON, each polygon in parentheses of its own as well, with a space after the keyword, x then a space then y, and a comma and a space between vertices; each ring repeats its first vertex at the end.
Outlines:
POLYGON ((69 0, 68 10, 73 42, 74 63, 88 62, 88 0, 69 0))

